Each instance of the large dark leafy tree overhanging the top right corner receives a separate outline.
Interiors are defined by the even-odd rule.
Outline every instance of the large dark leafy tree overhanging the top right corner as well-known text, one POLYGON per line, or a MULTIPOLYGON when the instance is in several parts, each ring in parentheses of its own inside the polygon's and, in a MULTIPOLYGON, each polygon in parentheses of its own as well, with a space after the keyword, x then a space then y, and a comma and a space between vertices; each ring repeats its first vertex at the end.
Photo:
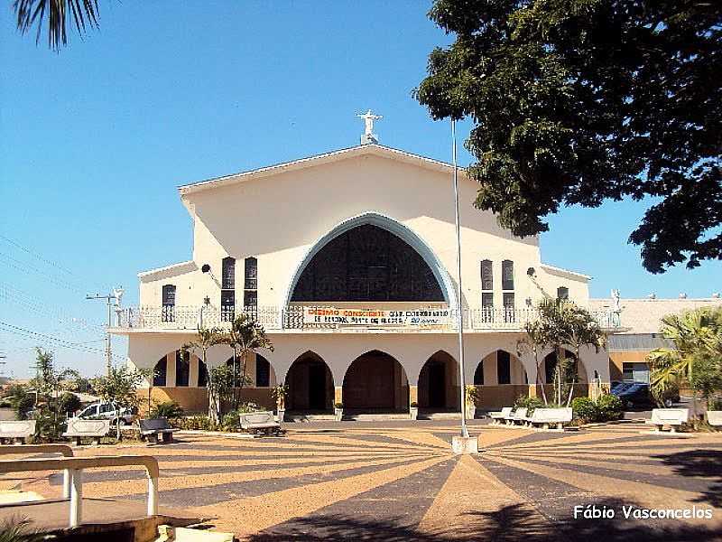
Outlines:
POLYGON ((653 273, 722 257, 722 3, 436 0, 456 40, 415 95, 470 117, 476 205, 519 236, 562 205, 660 198, 630 241, 653 273))

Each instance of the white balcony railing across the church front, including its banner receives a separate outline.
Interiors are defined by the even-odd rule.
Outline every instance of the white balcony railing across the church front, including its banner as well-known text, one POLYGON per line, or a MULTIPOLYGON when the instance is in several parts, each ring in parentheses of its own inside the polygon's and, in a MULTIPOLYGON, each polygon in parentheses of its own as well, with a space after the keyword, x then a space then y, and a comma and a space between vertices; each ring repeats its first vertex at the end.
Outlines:
MULTIPOLYGON (((165 306, 130 307, 117 311, 116 328, 124 330, 196 330, 199 326, 227 328, 236 314, 247 313, 266 331, 374 331, 414 332, 457 329, 457 313, 452 309, 338 309, 318 306, 214 307, 165 306)), ((619 327, 611 312, 592 312, 602 329, 619 327)), ((469 331, 522 331, 527 322, 539 317, 535 308, 464 309, 464 329, 469 331)))

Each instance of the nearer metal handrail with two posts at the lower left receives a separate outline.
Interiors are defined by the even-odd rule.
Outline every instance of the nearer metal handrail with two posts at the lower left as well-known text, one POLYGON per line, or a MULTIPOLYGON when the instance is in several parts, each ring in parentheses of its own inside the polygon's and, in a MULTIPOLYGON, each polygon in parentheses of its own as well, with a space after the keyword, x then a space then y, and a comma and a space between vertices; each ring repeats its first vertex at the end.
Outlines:
POLYGON ((147 515, 158 514, 158 460, 151 455, 98 455, 95 457, 61 457, 0 461, 0 474, 8 472, 68 471, 70 473, 69 526, 82 521, 83 470, 97 467, 143 466, 148 474, 147 515))

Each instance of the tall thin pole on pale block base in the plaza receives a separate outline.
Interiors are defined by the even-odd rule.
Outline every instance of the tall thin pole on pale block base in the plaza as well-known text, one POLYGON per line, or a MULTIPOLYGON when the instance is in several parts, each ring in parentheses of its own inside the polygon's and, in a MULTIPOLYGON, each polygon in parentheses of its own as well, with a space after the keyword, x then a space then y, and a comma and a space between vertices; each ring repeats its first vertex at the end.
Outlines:
POLYGON ((461 394, 461 435, 453 437, 451 447, 455 453, 477 453, 478 440, 468 435, 467 427, 467 382, 464 372, 464 313, 461 304, 461 218, 458 211, 458 166, 457 166, 457 128, 456 120, 451 118, 451 156, 454 166, 454 221, 457 230, 457 331, 458 331, 458 376, 461 394))

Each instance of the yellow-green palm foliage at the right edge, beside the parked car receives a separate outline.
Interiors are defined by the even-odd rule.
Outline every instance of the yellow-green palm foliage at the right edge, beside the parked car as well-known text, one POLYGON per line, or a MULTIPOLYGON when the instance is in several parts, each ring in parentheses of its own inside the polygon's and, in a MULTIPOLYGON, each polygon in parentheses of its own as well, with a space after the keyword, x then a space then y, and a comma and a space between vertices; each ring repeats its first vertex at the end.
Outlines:
POLYGON ((685 384, 705 398, 720 390, 722 307, 668 314, 662 318, 660 331, 671 345, 655 349, 647 357, 654 397, 659 400, 669 389, 685 384))

